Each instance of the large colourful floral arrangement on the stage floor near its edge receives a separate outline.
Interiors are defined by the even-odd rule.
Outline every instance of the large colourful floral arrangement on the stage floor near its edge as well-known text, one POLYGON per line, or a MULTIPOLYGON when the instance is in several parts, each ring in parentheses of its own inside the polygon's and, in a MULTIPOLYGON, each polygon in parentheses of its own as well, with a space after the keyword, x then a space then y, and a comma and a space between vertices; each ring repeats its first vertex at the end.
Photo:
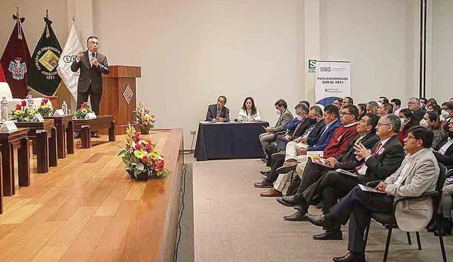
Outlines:
POLYGON ((126 148, 118 155, 122 156, 122 162, 125 163, 125 169, 131 178, 147 180, 153 177, 168 177, 164 157, 155 146, 151 141, 142 138, 134 126, 127 126, 126 148))

